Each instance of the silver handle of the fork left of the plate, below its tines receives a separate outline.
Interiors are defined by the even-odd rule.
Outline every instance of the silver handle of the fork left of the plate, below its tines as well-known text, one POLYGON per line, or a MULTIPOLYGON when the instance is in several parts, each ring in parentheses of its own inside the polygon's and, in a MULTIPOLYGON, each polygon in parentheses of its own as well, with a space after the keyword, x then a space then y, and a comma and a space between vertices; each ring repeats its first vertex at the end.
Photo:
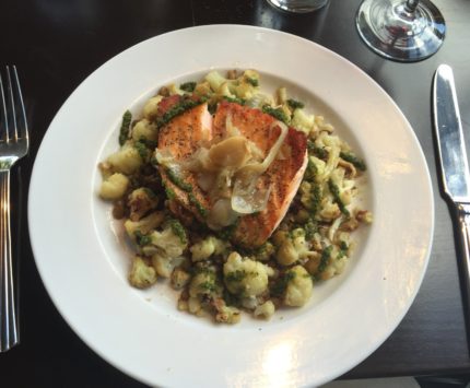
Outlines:
POLYGON ((10 171, 0 171, 0 352, 20 342, 10 231, 10 171))

